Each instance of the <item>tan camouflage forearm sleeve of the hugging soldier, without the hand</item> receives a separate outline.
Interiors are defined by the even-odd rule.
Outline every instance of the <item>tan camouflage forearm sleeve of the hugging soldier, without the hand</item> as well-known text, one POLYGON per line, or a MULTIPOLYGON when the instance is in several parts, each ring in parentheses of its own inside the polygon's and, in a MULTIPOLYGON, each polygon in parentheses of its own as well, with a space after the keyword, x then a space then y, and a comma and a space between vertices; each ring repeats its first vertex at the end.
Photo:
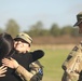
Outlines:
POLYGON ((15 70, 16 75, 20 77, 23 81, 40 81, 40 73, 32 73, 26 70, 23 66, 18 66, 15 70))

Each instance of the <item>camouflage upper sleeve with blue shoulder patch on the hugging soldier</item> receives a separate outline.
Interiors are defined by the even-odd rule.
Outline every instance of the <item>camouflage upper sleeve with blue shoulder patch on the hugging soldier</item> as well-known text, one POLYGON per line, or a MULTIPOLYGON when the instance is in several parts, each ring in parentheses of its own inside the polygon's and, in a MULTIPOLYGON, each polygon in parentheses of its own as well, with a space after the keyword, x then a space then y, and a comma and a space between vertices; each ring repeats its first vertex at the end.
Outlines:
POLYGON ((36 60, 31 63, 29 67, 30 67, 30 72, 33 75, 33 78, 37 79, 35 81, 41 81, 43 78, 43 66, 41 65, 41 63, 39 60, 36 60))

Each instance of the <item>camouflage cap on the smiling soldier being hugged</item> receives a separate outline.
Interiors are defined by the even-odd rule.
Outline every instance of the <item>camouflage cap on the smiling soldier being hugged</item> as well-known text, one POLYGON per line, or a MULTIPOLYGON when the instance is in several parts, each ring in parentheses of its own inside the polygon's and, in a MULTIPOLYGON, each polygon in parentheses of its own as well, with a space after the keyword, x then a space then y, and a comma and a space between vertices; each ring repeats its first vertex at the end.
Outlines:
POLYGON ((24 41, 26 41, 27 43, 31 44, 32 43, 32 39, 29 35, 25 33, 25 32, 20 32, 18 33, 14 40, 16 39, 23 39, 24 41))

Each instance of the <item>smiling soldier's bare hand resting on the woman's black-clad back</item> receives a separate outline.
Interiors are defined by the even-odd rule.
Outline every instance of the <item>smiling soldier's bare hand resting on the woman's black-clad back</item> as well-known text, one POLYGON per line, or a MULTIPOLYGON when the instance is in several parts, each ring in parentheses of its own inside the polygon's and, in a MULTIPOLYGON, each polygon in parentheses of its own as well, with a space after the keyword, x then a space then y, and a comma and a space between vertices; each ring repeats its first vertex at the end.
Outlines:
POLYGON ((6 66, 6 67, 10 67, 12 69, 16 69, 18 67, 18 63, 14 59, 14 58, 3 58, 2 59, 2 65, 3 66, 6 66))

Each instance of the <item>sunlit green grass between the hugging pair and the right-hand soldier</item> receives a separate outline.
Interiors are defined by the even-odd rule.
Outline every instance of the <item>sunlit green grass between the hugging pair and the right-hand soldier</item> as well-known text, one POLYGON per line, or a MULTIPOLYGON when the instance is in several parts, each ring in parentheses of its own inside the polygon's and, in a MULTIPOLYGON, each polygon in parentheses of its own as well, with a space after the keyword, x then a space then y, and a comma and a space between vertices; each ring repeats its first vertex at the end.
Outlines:
POLYGON ((41 49, 45 53, 44 57, 40 59, 41 64, 44 66, 43 81, 62 81, 62 64, 66 59, 70 50, 46 49, 44 46, 41 49))

